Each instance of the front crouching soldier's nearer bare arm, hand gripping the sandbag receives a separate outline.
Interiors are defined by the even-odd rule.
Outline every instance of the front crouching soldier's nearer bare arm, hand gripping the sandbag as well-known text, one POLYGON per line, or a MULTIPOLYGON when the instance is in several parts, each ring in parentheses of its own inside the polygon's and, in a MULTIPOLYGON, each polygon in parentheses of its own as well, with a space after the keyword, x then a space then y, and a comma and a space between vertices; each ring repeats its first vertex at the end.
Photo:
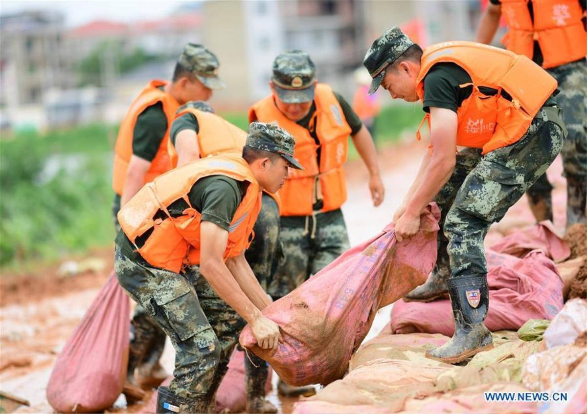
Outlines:
MULTIPOLYGON (((222 259, 228 242, 228 232, 212 222, 200 225, 200 272, 222 300, 251 325, 253 335, 264 349, 277 348, 279 327, 264 317, 261 310, 247 297, 222 259)), ((255 283, 258 284, 257 280, 255 283)))

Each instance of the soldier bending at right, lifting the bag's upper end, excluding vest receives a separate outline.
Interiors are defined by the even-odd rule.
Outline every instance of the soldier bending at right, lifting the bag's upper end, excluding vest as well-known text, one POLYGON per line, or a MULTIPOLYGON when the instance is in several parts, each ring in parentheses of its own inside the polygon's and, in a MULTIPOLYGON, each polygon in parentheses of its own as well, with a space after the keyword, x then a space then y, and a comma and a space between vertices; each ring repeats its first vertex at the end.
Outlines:
MULTIPOLYGON (((458 55, 466 53, 467 59, 492 59, 495 55, 490 53, 501 53, 475 43, 454 42, 453 45, 455 50, 468 47, 467 52, 458 55)), ((552 94, 518 141, 510 145, 502 142, 496 145, 497 149, 484 155, 481 148, 469 147, 455 156, 457 137, 462 142, 460 145, 473 144, 478 139, 457 129, 461 121, 457 108, 467 104, 475 110, 471 102, 474 99, 473 75, 453 63, 455 60, 450 54, 456 52, 450 49, 450 43, 437 47, 431 49, 433 52, 427 57, 427 62, 431 63, 424 66, 420 46, 399 28, 392 28, 373 42, 363 65, 373 77, 371 93, 381 85, 394 99, 423 100, 424 111, 430 112, 433 153, 425 156, 418 177, 394 214, 394 222, 397 240, 402 242, 404 237, 416 234, 421 209, 429 201, 434 199, 441 209, 440 225, 444 234, 438 235, 436 268, 427 282, 411 291, 407 299, 429 301, 450 294, 455 334, 447 344, 427 352, 427 356, 456 363, 492 347, 491 333, 483 323, 489 303, 483 246, 487 230, 544 174, 561 151, 566 128, 552 94), (464 135, 458 135, 461 133, 464 135)), ((528 70, 532 71, 528 74, 528 82, 533 79, 531 76, 544 79, 545 73, 540 67, 528 65, 528 70)), ((478 76, 484 79, 483 74, 478 76)), ((554 82, 551 84, 554 89, 554 82)), ((494 84, 475 86, 488 97, 498 93, 494 84)), ((538 91, 537 96, 548 96, 548 91, 538 91)), ((466 110, 462 113, 475 115, 466 110)), ((506 118, 504 122, 514 121, 506 118)), ((512 127, 506 124, 504 128, 508 125, 512 127)), ((495 136, 495 132, 492 135, 495 136)))

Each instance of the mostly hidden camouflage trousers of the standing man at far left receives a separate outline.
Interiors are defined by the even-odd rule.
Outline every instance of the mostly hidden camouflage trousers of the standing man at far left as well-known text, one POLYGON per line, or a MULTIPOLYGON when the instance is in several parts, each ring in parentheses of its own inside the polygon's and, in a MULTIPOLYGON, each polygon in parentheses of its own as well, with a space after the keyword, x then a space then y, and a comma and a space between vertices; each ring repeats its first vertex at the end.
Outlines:
MULTIPOLYGON (((114 194, 112 202, 112 220, 116 232, 120 231, 117 214, 120 211, 120 196, 114 194)), ((127 376, 134 375, 134 369, 147 363, 151 367, 157 364, 165 348, 165 332, 161 330, 140 305, 134 308, 133 318, 130 321, 130 347, 127 376)))

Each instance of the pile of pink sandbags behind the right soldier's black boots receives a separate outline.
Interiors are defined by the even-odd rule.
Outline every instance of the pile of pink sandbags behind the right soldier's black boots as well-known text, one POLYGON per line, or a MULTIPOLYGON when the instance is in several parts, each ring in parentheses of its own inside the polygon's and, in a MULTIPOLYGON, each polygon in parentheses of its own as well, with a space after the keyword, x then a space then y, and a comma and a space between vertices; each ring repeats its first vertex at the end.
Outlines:
MULTIPOLYGON (((529 319, 551 320, 563 306, 564 284, 554 261, 569 257, 568 244, 550 222, 504 237, 487 250, 490 331, 518 330, 529 319)), ((450 300, 397 301, 387 332, 452 336, 450 300)))

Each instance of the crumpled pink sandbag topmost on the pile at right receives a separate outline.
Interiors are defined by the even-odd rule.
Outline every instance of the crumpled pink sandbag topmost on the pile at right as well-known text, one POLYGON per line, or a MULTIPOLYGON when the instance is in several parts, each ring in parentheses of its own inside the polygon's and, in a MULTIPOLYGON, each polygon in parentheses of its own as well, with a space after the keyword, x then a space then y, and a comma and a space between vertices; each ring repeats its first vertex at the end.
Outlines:
POLYGON ((556 235, 556 230, 549 220, 518 230, 492 245, 490 249, 516 257, 524 257, 532 250, 542 250, 555 262, 562 262, 571 256, 568 243, 556 235))

